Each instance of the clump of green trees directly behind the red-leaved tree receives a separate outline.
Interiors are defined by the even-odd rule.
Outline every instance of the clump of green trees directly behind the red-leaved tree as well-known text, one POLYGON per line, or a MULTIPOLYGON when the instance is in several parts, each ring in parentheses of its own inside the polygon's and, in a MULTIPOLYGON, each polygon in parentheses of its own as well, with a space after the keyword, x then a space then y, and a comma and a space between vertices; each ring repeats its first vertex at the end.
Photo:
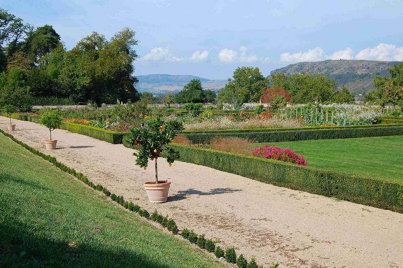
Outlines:
MULTIPOLYGON (((245 102, 259 102, 267 88, 271 89, 272 94, 281 92, 276 98, 277 103, 287 100, 284 92, 290 94, 294 103, 354 102, 354 94, 346 87, 337 91, 334 81, 324 75, 302 73, 286 76, 278 73, 266 78, 258 68, 241 67, 235 70, 233 79, 228 79, 225 88, 219 92, 218 103, 240 107, 245 102)), ((274 97, 271 99, 274 100, 274 97)))

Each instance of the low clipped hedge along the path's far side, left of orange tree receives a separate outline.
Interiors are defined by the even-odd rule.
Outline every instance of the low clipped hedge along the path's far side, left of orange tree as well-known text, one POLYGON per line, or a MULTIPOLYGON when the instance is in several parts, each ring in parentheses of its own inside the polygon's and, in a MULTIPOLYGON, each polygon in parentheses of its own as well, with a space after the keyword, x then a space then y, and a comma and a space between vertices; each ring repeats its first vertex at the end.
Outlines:
MULTIPOLYGON (((0 113, 0 115, 8 116, 7 114, 0 113)), ((22 121, 31 121, 34 123, 39 123, 39 115, 30 115, 30 114, 19 114, 13 113, 11 118, 22 120, 22 121)), ((122 132, 114 132, 106 129, 102 129, 99 127, 91 126, 91 125, 83 125, 76 124, 70 122, 61 122, 60 129, 68 130, 70 132, 78 133, 81 135, 86 135, 101 141, 105 141, 111 144, 121 144, 123 136, 127 135, 127 133, 122 132)))

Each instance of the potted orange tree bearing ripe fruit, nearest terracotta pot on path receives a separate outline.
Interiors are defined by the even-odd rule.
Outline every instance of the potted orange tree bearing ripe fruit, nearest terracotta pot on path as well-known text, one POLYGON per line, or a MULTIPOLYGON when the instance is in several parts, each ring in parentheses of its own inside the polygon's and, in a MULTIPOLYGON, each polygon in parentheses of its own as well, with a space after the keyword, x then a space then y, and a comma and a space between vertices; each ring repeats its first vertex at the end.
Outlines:
POLYGON ((155 180, 144 183, 150 202, 164 203, 168 198, 168 180, 158 179, 157 160, 163 151, 166 151, 168 166, 179 158, 179 152, 168 147, 175 136, 184 129, 177 120, 166 120, 157 117, 146 121, 141 126, 130 128, 129 142, 140 146, 137 153, 136 164, 140 168, 147 169, 149 161, 155 161, 155 180))

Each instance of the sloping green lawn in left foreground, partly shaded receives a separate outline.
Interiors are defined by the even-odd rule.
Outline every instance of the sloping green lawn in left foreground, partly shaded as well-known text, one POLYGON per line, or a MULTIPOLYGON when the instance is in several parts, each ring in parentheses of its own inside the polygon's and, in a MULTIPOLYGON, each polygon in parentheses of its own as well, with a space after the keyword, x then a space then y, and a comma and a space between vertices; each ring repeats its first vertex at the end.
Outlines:
POLYGON ((0 133, 0 267, 219 267, 0 133))

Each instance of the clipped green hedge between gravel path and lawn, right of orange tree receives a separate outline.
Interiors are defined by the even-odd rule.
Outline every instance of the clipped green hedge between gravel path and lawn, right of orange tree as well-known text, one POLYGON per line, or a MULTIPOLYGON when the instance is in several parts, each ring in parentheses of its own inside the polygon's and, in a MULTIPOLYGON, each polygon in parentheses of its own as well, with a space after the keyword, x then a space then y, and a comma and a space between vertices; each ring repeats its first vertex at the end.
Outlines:
MULTIPOLYGON (((123 145, 135 148, 123 138, 123 145)), ((241 175, 264 183, 403 213, 403 182, 356 176, 276 160, 210 149, 170 145, 179 160, 241 175)), ((162 155, 164 157, 164 154, 162 155)))

